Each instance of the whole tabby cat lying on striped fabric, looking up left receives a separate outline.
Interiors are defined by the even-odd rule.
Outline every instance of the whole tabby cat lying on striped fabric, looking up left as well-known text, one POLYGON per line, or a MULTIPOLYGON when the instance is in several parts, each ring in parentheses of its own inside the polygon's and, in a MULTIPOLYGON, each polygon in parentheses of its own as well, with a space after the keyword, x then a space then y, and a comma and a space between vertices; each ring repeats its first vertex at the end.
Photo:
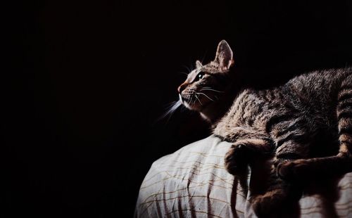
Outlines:
POLYGON ((270 217, 283 203, 298 200, 294 181, 299 177, 352 172, 352 68, 309 72, 272 89, 239 91, 233 65, 232 49, 222 40, 215 59, 206 65, 197 60, 177 91, 180 103, 210 121, 215 136, 232 143, 225 155, 230 174, 245 172, 256 162, 253 157, 270 158, 266 191, 251 199, 258 217, 270 217), (322 141, 334 152, 313 155, 322 141))

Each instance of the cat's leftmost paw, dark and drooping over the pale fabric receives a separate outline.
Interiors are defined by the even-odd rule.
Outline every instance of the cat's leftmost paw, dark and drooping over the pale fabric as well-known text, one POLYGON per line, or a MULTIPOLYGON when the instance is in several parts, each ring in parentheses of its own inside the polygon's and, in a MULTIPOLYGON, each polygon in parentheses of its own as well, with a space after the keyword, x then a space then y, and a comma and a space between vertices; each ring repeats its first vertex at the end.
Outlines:
POLYGON ((244 144, 233 145, 225 155, 225 169, 235 175, 246 170, 250 150, 244 144))

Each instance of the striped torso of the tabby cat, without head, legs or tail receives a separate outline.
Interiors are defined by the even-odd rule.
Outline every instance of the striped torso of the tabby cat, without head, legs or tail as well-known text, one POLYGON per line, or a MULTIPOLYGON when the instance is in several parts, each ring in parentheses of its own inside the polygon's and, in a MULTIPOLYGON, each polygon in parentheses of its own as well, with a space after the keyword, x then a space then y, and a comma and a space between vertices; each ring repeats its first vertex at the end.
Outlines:
POLYGON ((339 102, 339 97, 352 94, 350 84, 352 69, 346 68, 310 72, 274 89, 245 89, 213 132, 232 142, 262 137, 278 156, 308 158, 315 137, 325 133, 339 139, 341 110, 352 109, 352 98, 339 102))

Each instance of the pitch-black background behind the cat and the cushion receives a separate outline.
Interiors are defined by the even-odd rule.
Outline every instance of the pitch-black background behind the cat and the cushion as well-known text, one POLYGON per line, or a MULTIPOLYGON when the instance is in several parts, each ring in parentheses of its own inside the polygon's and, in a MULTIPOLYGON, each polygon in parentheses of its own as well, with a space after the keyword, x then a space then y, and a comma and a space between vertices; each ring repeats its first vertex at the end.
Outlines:
POLYGON ((234 50, 267 87, 352 63, 351 1, 13 1, 1 72, 6 217, 132 217, 151 163, 202 139, 180 72, 234 50), (8 43, 8 41, 12 41, 8 43))

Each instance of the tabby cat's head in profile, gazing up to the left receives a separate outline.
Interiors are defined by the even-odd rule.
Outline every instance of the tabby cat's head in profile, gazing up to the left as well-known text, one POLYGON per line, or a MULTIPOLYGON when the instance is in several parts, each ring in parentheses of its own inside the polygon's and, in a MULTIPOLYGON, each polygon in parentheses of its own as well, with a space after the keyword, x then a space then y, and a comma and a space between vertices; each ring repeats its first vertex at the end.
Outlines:
POLYGON ((226 87, 231 83, 229 74, 233 65, 233 52, 225 40, 220 41, 215 59, 206 65, 197 60, 196 69, 178 87, 180 102, 190 110, 196 110, 202 117, 211 120, 210 116, 226 87))

